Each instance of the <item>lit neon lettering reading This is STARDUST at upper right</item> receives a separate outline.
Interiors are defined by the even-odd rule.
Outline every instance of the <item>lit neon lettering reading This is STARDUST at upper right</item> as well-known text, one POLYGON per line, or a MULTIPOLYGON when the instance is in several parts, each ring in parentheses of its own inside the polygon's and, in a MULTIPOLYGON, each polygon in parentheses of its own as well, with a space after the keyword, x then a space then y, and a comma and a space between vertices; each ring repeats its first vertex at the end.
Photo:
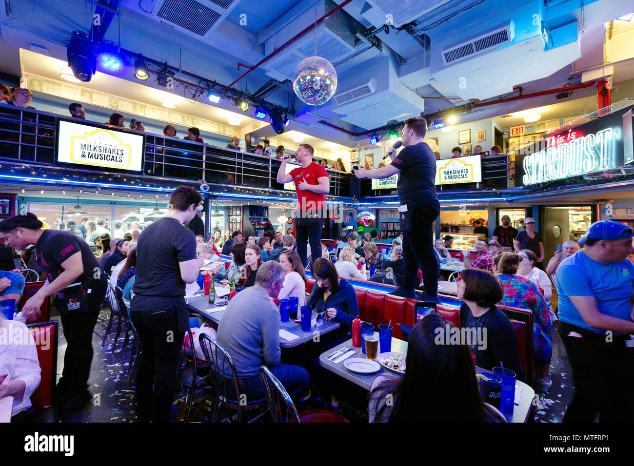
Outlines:
POLYGON ((522 182, 543 183, 613 168, 618 131, 609 127, 581 137, 568 134, 548 138, 547 148, 524 157, 522 182))

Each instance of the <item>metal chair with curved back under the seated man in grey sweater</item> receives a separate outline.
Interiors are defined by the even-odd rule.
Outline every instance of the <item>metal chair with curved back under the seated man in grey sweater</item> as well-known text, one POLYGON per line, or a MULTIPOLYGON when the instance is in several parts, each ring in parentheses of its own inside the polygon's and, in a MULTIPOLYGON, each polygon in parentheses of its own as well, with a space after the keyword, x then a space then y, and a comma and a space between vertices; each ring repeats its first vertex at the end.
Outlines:
MULTIPOLYGON (((243 399, 240 394, 240 382, 238 381, 238 373, 236 372, 236 366, 233 363, 233 359, 231 359, 228 351, 224 349, 224 347, 216 339, 213 339, 205 333, 201 333, 200 337, 198 337, 198 341, 200 341, 200 347, 202 348, 202 352, 205 354, 207 365, 209 365, 209 373, 214 387, 214 411, 212 413, 212 422, 216 422, 218 411, 223 406, 232 411, 236 411, 238 422, 242 422, 242 411, 257 410, 266 406, 266 398, 256 399, 255 401, 245 401, 245 399, 243 399), (226 373, 231 373, 231 379, 227 380, 225 378, 226 373), (235 399, 231 399, 227 395, 228 382, 230 382, 233 386, 235 399)), ((264 412, 249 422, 253 422, 257 418, 261 417, 264 412)))

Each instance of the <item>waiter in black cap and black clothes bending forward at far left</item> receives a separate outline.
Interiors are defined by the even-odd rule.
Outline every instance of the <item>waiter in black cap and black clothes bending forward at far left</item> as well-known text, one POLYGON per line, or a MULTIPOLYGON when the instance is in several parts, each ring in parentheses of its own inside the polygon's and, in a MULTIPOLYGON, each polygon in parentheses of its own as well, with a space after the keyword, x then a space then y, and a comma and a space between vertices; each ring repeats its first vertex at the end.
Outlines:
POLYGON ((69 231, 42 230, 42 222, 30 212, 0 222, 0 236, 17 250, 36 245, 37 265, 47 276, 44 286, 22 307, 27 320, 37 318, 44 300, 55 296, 67 342, 56 391, 58 412, 64 416, 92 399, 87 380, 106 276, 88 243, 69 231))

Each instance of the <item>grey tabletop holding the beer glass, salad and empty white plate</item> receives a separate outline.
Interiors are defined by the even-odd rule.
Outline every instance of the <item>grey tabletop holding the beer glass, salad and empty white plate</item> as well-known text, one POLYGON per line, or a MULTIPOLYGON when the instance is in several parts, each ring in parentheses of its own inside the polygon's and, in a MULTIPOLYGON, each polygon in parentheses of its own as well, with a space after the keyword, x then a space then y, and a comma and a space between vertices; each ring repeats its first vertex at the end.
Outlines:
MULTIPOLYGON (((378 335, 377 332, 374 332, 374 333, 375 335, 378 335)), ((361 351, 361 348, 353 347, 353 340, 350 339, 350 340, 347 340, 347 342, 344 342, 338 346, 332 347, 328 349, 328 351, 325 351, 325 353, 320 354, 319 359, 320 359, 321 366, 330 370, 330 372, 334 372, 337 375, 340 375, 344 379, 350 380, 354 384, 357 384, 359 385, 359 387, 363 387, 366 390, 370 390, 370 387, 372 387, 372 382, 374 381, 374 379, 376 379, 382 373, 387 372, 390 374, 395 374, 395 372, 384 369, 383 366, 381 366, 378 372, 371 373, 371 374, 359 374, 359 373, 351 372, 347 370, 346 366, 344 366, 344 362, 349 358, 344 359, 344 361, 341 361, 340 363, 337 363, 337 364, 335 364, 333 361, 329 361, 326 359, 327 356, 334 353, 338 349, 341 349, 342 347, 348 347, 356 351, 356 354, 353 354, 353 356, 350 356, 350 358, 365 358, 365 354, 363 354, 363 352, 361 351)), ((392 337, 391 351, 399 351, 400 353, 407 353, 407 342, 404 342, 403 340, 399 340, 392 337)), ((383 351, 379 345, 378 353, 380 354, 382 352, 383 351)), ((491 371, 482 369, 479 367, 476 368, 476 372, 483 373, 483 374, 491 373, 491 371)), ((504 415, 504 417, 507 419, 508 422, 526 422, 526 420, 528 419, 529 413, 531 412, 531 406, 533 402, 533 397, 535 395, 535 391, 529 385, 525 384, 524 382, 520 382, 519 380, 515 381, 515 391, 516 391, 516 395, 517 395, 517 391, 520 391, 520 392, 519 392, 519 399, 515 400, 516 403, 515 403, 515 408, 513 410, 513 413, 502 413, 502 414, 504 415)))

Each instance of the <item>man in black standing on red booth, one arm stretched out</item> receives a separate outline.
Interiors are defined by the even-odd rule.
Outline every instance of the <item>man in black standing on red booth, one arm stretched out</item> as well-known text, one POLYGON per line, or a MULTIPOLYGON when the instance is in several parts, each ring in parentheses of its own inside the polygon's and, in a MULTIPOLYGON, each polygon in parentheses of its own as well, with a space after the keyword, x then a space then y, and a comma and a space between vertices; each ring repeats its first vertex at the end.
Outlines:
POLYGON ((425 143, 427 121, 422 117, 405 120, 403 150, 392 163, 375 170, 359 169, 357 178, 389 178, 398 173, 399 217, 403 231, 403 283, 391 294, 417 297, 414 291, 418 268, 423 273, 422 301, 438 299, 438 261, 434 253, 434 221, 440 213, 436 195, 436 155, 425 143))

